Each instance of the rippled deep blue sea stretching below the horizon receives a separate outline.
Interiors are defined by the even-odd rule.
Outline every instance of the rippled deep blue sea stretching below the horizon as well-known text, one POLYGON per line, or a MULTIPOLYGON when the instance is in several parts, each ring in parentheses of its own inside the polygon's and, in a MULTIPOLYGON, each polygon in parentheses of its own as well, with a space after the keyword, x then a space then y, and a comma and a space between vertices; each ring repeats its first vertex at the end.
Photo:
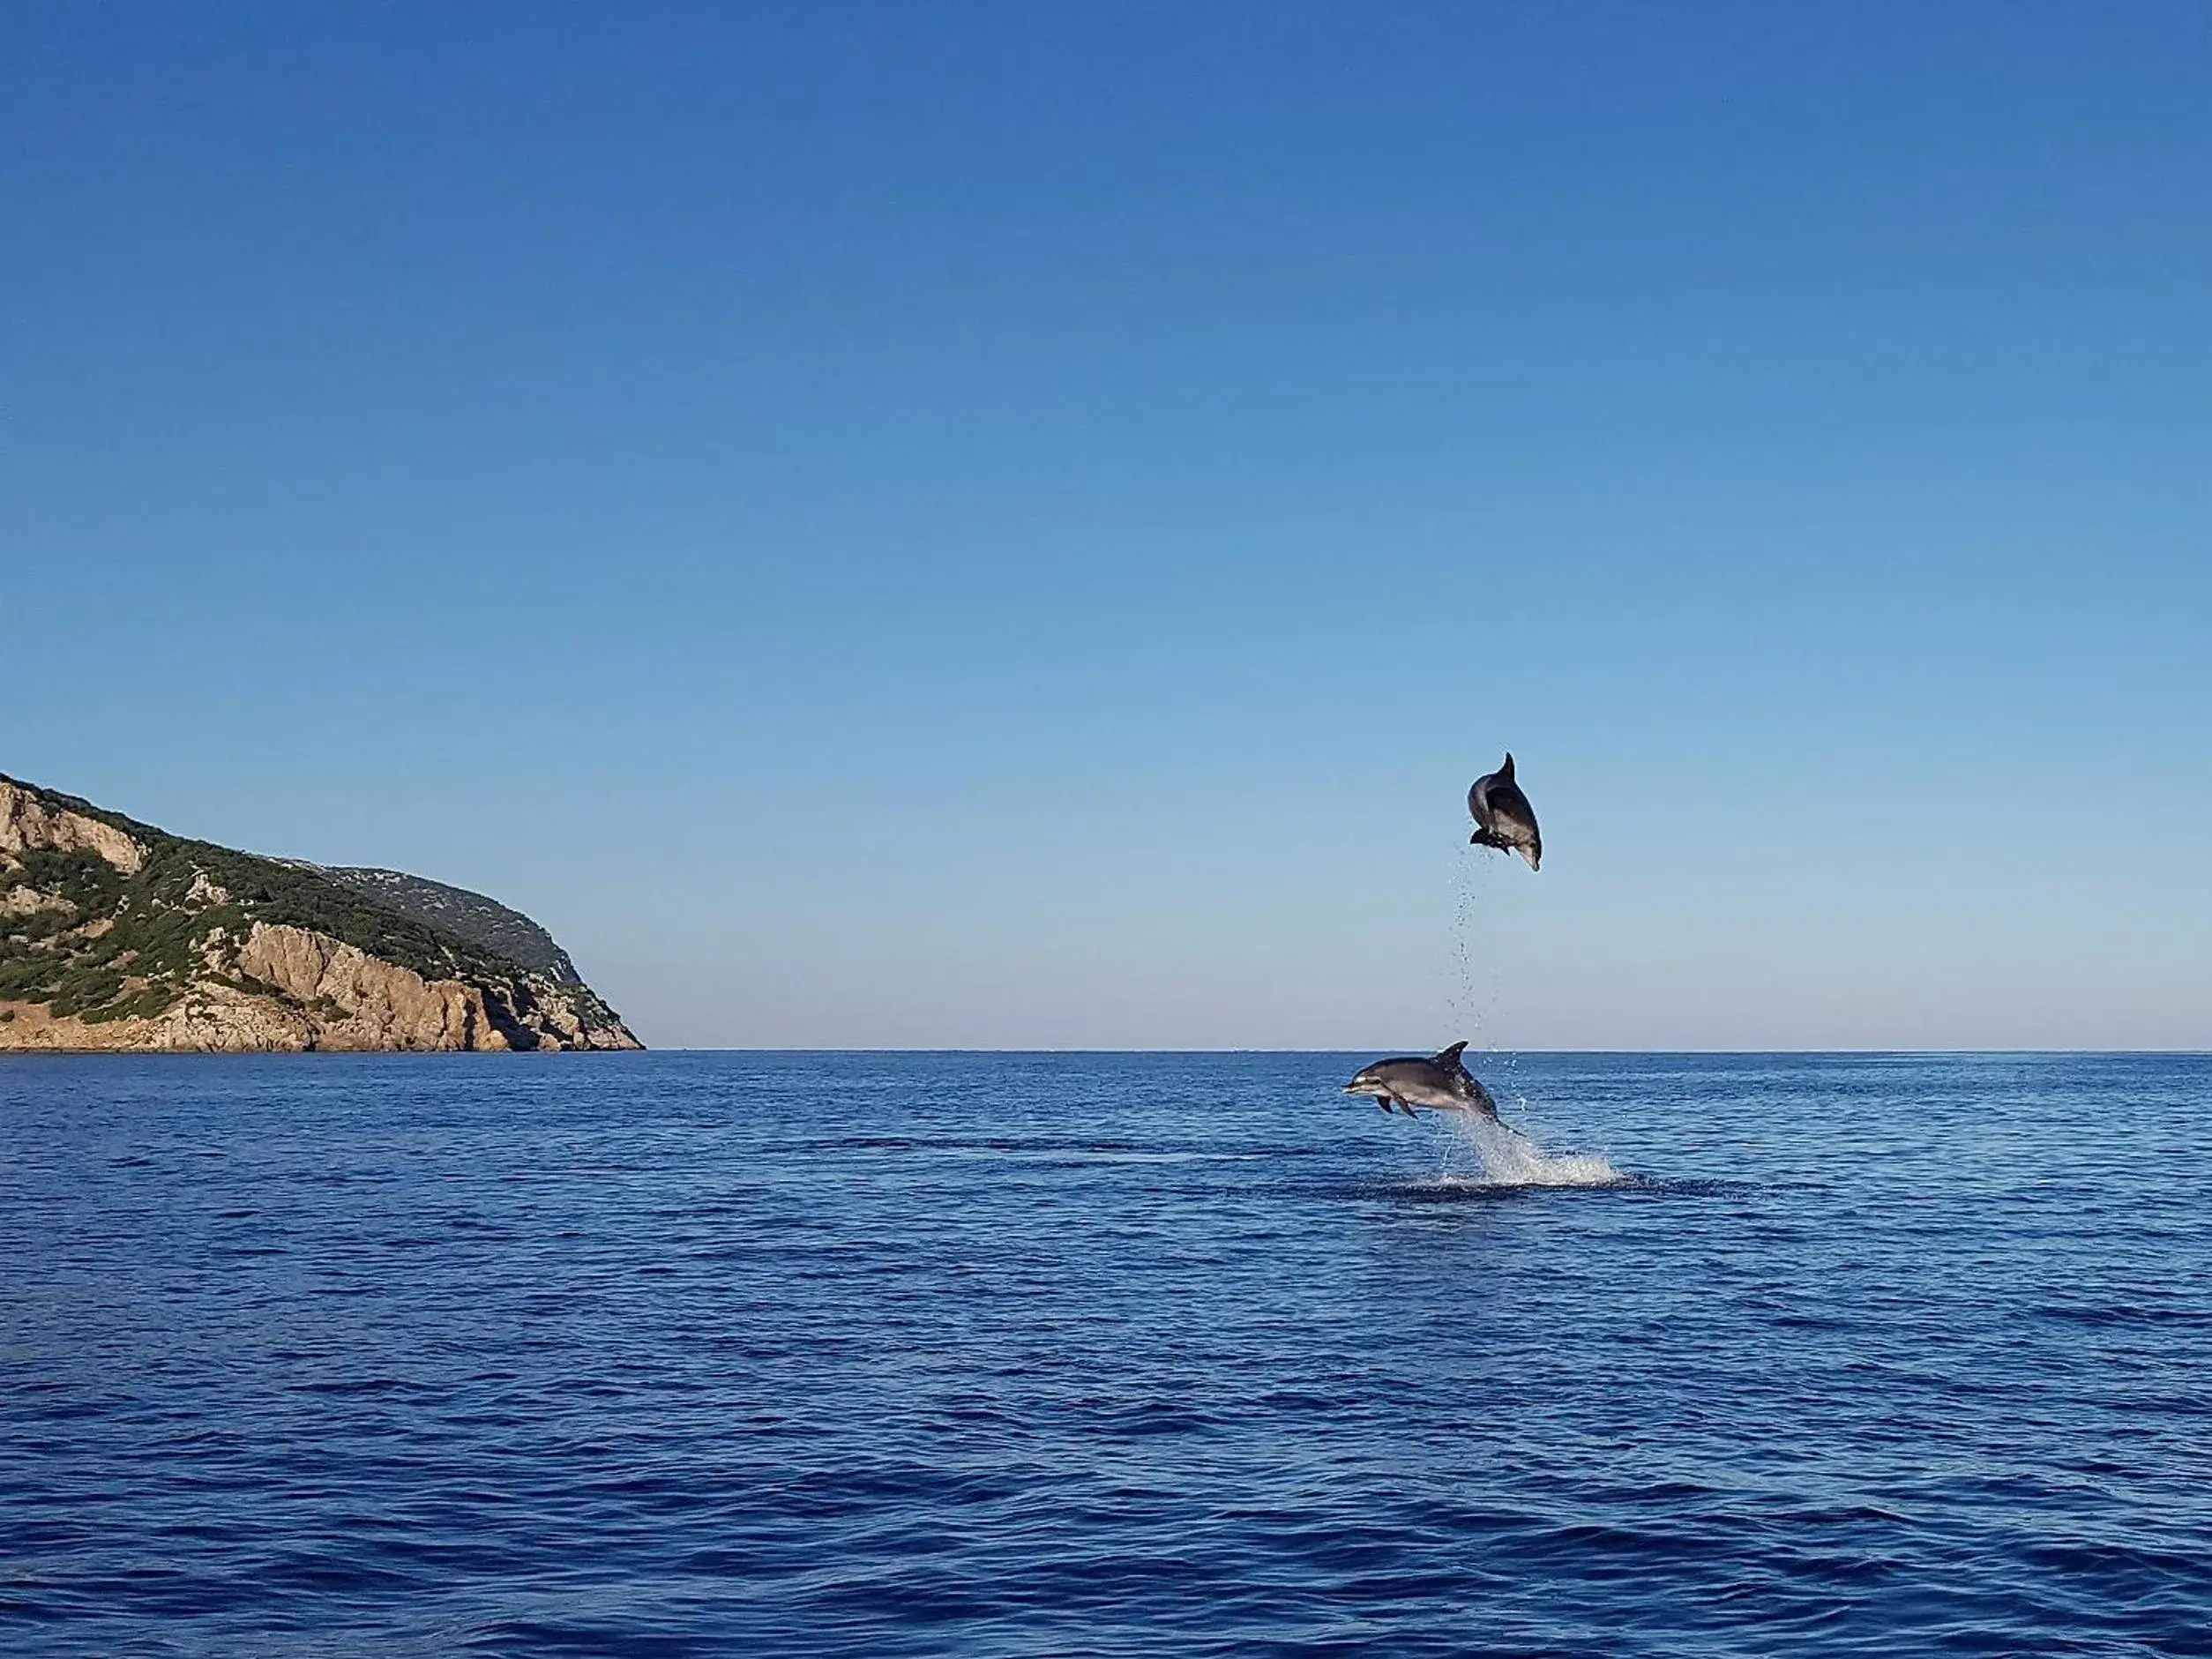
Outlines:
POLYGON ((2212 1060, 1365 1057, 0 1062, 0 1650, 2212 1650, 2212 1060))

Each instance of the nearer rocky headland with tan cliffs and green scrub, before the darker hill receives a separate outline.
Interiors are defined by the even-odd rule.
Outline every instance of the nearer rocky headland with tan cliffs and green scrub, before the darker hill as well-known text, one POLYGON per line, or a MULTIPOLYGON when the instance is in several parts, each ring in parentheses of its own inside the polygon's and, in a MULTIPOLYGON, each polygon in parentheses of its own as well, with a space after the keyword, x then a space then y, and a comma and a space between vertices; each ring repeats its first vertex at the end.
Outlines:
POLYGON ((330 876, 0 779, 0 1051, 641 1046, 573 969, 330 876))

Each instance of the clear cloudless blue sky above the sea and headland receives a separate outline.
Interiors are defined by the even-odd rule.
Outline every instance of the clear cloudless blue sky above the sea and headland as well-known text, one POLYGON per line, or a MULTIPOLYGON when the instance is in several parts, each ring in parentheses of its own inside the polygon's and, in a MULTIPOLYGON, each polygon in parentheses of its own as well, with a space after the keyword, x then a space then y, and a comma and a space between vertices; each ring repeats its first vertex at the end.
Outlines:
POLYGON ((2194 0, 13 4, 0 770, 659 1044, 2208 1046, 2208 179, 2194 0))

